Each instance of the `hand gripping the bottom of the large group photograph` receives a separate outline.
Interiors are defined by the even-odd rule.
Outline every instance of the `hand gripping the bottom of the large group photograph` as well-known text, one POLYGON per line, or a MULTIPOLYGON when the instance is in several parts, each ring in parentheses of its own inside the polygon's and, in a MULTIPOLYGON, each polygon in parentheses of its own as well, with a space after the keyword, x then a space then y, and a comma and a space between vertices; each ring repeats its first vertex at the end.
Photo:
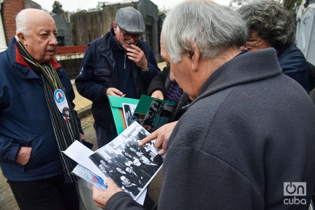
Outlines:
POLYGON ((107 201, 112 197, 116 192, 122 191, 112 180, 111 178, 106 179, 106 190, 100 190, 94 185, 92 186, 93 200, 97 207, 104 209, 107 201))

